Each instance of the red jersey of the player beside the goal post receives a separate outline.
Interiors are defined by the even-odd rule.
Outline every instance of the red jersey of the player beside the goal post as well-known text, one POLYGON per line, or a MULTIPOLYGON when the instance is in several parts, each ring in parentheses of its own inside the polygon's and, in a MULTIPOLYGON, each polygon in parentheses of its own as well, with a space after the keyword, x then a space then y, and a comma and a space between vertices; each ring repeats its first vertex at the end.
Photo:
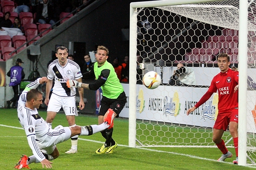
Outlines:
POLYGON ((238 92, 234 93, 234 89, 238 85, 238 79, 238 71, 233 71, 230 68, 228 71, 213 77, 208 91, 216 93, 218 90, 219 113, 238 108, 238 92))

